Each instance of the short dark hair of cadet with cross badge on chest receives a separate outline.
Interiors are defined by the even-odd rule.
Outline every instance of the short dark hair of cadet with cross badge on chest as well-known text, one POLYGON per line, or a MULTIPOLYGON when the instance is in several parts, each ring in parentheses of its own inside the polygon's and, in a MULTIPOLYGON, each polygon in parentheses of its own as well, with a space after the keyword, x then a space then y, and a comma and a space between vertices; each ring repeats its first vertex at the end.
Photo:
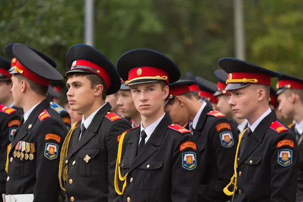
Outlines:
POLYGON ((79 73, 79 72, 72 72, 72 73, 69 73, 66 77, 66 79, 68 80, 69 78, 72 78, 74 76, 83 76, 83 77, 86 77, 89 81, 90 81, 90 85, 91 85, 91 88, 94 88, 96 85, 103 85, 103 90, 102 90, 102 93, 101 93, 101 97, 103 100, 106 99, 106 89, 107 89, 107 86, 104 82, 104 80, 96 75, 96 74, 90 74, 90 73, 79 73))

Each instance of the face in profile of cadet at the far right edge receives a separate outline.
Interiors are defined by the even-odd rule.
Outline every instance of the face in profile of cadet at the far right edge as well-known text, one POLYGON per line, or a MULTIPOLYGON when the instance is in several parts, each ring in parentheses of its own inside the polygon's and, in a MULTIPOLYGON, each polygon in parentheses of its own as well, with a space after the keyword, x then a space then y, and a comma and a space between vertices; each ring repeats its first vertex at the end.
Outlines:
POLYGON ((282 116, 287 120, 293 120, 295 107, 292 102, 291 96, 286 96, 285 92, 282 92, 277 97, 279 107, 278 111, 282 113, 282 116))

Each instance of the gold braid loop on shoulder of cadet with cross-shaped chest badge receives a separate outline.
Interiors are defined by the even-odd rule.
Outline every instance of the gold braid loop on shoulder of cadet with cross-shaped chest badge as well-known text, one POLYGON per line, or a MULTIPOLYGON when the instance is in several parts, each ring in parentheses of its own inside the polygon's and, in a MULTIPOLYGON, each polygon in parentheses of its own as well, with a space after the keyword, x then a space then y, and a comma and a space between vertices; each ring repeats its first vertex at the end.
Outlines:
POLYGON ((60 162, 59 162, 59 181, 60 181, 60 187, 63 191, 66 191, 65 184, 67 182, 67 172, 68 172, 68 165, 65 162, 63 162, 63 160, 67 157, 69 142, 71 140, 74 130, 76 129, 77 124, 78 121, 72 125, 70 131, 67 133, 67 136, 63 142, 61 149, 60 162))

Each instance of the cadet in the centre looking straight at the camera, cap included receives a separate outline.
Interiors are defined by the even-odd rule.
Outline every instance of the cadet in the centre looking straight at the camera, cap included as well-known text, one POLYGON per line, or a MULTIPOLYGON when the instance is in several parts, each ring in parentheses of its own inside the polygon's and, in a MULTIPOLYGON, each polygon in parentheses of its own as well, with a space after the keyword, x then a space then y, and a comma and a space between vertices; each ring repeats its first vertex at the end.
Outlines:
POLYGON ((196 201, 195 139, 164 112, 168 84, 180 78, 179 69, 158 52, 136 49, 120 57, 117 70, 142 118, 120 138, 115 173, 120 201, 196 201))

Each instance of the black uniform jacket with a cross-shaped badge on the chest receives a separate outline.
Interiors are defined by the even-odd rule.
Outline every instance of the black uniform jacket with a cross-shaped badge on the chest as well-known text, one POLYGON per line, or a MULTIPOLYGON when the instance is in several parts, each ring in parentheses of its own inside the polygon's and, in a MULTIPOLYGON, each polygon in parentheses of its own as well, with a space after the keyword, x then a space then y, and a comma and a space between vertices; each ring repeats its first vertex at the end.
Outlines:
POLYGON ((78 126, 71 137, 68 155, 66 194, 68 201, 113 201, 118 194, 114 187, 118 136, 130 123, 110 112, 107 103, 94 116, 82 134, 78 126))

